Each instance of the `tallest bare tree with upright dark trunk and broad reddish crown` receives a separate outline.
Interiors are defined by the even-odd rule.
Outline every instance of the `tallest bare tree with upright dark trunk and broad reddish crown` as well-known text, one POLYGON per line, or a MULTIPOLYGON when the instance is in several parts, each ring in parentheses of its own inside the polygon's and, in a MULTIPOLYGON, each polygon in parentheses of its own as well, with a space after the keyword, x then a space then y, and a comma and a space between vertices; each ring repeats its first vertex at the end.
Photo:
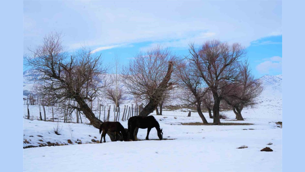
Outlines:
POLYGON ((238 65, 246 55, 245 47, 239 43, 222 43, 219 40, 206 41, 196 49, 189 44, 189 61, 196 68, 200 77, 213 94, 213 125, 221 124, 219 117, 222 88, 239 79, 238 65))

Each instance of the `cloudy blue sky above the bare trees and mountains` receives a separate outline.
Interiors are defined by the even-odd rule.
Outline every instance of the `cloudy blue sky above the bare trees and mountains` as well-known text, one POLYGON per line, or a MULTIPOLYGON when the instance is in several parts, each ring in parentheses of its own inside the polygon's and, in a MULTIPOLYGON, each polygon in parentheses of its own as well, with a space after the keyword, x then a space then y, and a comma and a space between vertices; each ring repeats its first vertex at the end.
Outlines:
POLYGON ((188 55, 188 43, 219 39, 247 47, 257 77, 282 74, 281 1, 24 1, 24 53, 51 31, 67 51, 82 45, 121 64, 158 44, 188 55))

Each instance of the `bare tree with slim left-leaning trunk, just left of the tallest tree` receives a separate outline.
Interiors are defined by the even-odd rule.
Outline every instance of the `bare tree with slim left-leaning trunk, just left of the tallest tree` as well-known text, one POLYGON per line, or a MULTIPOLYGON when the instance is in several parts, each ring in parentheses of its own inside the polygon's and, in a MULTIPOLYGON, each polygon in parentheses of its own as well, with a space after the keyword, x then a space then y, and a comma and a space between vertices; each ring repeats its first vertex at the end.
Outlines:
POLYGON ((205 94, 202 78, 197 75, 197 71, 193 66, 186 62, 181 62, 178 65, 175 76, 178 78, 178 84, 183 90, 179 94, 180 100, 185 105, 195 105, 203 123, 208 124, 201 111, 202 97, 205 94))

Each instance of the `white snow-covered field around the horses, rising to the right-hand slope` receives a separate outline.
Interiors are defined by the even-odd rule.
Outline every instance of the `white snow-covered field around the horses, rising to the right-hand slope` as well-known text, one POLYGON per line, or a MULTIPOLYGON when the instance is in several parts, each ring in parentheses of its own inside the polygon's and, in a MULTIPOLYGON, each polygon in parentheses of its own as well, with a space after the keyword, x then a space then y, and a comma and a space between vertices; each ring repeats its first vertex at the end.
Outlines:
MULTIPOLYGON (((245 121, 234 121, 233 111, 222 112, 229 119, 222 123, 251 123, 253 125, 192 126, 202 122, 197 113, 186 117, 187 109, 163 111, 155 116, 163 128, 163 138, 172 140, 143 140, 133 142, 96 143, 99 130, 88 124, 23 119, 26 146, 58 143, 65 146, 44 146, 23 149, 24 171, 282 171, 282 76, 264 76, 265 90, 255 108, 242 111, 245 121), (54 133, 57 124, 61 135, 54 133), (96 138, 95 138, 96 137, 96 138), (68 143, 68 139, 72 143, 68 143), (94 141, 92 141, 94 139, 94 141), (76 143, 75 143, 76 142, 76 143), (78 144, 81 142, 82 144, 78 144), (84 144, 93 143, 93 144, 84 144), (267 145, 272 143, 272 145, 267 145), (246 145, 248 148, 237 149, 246 145), (264 147, 273 152, 261 152, 264 147)), ((127 105, 127 104, 126 104, 127 105)), ((25 107, 25 106, 24 106, 25 107)), ((32 111, 39 107, 31 107, 32 111)), ((26 107, 25 107, 26 110, 26 107)), ((24 112, 23 117, 27 111, 24 112)), ((208 118, 208 122, 213 119, 208 118)), ((47 111, 47 118, 51 115, 47 111)), ((113 116, 112 116, 113 118, 113 116)), ((55 120, 56 121, 56 120, 55 120)), ((61 121, 61 120, 59 120, 61 121)), ((83 119, 83 123, 88 122, 83 119)), ((120 121, 127 128, 127 121, 120 121)), ((139 129, 138 139, 145 139, 146 129, 139 129)), ((158 139, 152 129, 149 139, 158 139)))

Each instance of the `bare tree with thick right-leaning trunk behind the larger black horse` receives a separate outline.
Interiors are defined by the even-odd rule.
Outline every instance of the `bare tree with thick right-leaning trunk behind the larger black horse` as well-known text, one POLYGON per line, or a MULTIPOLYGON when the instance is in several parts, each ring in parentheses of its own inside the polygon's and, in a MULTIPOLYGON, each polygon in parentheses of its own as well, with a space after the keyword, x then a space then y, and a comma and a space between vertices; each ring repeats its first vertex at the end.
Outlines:
MULTIPOLYGON (((123 82, 127 92, 147 102, 139 116, 148 116, 158 106, 163 93, 172 82, 171 74, 177 57, 161 46, 138 53, 123 67, 123 82)), ((135 129, 135 138, 138 129, 135 129)))

